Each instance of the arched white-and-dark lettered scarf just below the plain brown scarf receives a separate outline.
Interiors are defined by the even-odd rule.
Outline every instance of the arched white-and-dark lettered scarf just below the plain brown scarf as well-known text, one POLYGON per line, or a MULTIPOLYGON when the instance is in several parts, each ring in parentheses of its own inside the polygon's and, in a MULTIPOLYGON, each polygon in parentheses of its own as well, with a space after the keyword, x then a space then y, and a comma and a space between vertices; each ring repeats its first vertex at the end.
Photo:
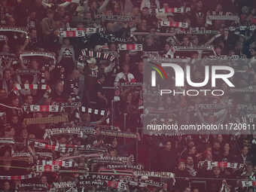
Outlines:
POLYGON ((60 135, 60 134, 72 134, 77 135, 79 137, 83 137, 83 132, 80 127, 65 127, 65 128, 54 128, 50 130, 45 130, 44 139, 50 138, 51 136, 60 135))

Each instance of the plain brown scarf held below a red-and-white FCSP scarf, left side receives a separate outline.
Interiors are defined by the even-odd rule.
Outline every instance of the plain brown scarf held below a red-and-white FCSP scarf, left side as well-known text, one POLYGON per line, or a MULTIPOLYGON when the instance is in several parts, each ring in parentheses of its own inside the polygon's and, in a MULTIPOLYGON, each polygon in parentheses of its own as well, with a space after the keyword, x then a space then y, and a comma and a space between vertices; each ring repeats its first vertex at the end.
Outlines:
POLYGON ((25 118, 23 123, 26 126, 31 124, 46 124, 46 123, 65 123, 69 121, 68 115, 54 116, 54 117, 38 117, 38 118, 25 118))

